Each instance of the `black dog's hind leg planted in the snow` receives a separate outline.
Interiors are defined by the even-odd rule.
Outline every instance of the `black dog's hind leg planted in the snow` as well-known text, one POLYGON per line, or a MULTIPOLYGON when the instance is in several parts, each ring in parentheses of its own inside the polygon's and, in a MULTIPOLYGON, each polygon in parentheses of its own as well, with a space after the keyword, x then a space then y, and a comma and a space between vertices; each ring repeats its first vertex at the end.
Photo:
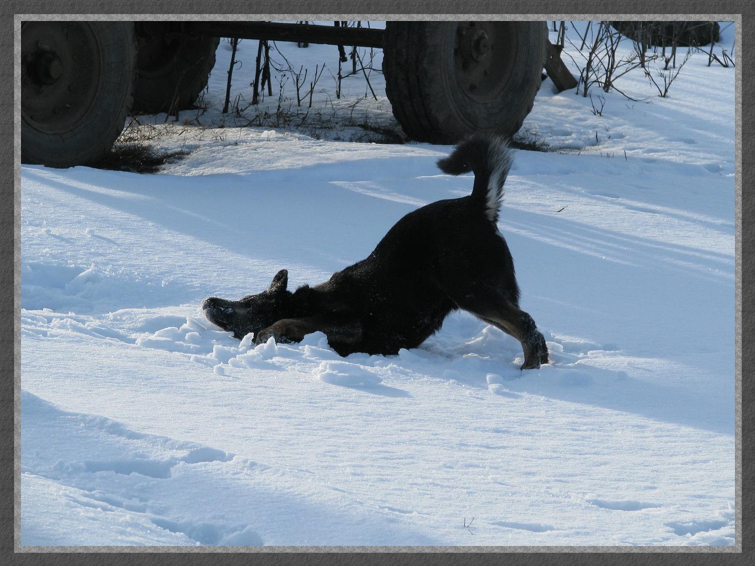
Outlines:
POLYGON ((464 293, 459 299, 451 297, 459 308, 471 312, 489 325, 494 325, 522 344, 524 363, 522 370, 540 368, 548 363, 548 348, 545 337, 538 331, 535 321, 527 312, 501 297, 490 288, 478 288, 473 293, 464 293))

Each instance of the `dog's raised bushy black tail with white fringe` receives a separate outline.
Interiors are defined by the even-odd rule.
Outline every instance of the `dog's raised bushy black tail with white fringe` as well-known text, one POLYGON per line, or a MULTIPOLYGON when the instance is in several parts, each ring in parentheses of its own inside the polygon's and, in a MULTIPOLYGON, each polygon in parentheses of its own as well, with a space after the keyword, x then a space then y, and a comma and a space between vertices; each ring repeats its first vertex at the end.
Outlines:
POLYGON ((461 175, 474 171, 472 200, 485 208, 492 223, 504 200, 504 182, 511 168, 511 152, 503 137, 474 134, 458 143, 448 157, 438 161, 445 174, 461 175))

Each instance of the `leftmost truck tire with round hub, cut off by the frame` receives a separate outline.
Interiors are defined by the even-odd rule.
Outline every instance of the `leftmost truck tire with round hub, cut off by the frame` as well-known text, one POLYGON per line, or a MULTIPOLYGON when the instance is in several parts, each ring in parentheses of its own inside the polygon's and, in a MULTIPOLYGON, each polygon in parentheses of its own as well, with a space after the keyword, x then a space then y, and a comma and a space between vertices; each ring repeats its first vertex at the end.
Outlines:
POLYGON ((131 22, 21 26, 21 161, 65 168, 103 158, 134 99, 131 22))

